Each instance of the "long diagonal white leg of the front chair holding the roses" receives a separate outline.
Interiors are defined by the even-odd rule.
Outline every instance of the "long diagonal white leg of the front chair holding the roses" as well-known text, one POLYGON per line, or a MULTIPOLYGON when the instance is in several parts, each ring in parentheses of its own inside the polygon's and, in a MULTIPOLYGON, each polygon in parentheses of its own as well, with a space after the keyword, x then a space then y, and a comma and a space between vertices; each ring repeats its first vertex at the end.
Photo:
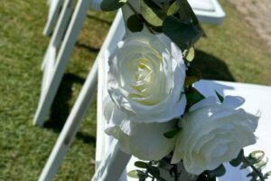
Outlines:
POLYGON ((72 138, 74 138, 79 128, 79 124, 84 117, 90 102, 90 98, 93 96, 94 91, 96 90, 98 79, 98 62, 103 60, 105 51, 109 49, 109 47, 116 46, 116 43, 122 39, 123 35, 124 24, 122 22, 121 12, 119 11, 109 30, 105 43, 98 53, 98 58, 93 64, 92 69, 89 72, 89 76, 79 93, 79 98, 76 100, 75 105, 70 112, 70 116, 61 130, 61 135, 52 149, 51 155, 42 170, 39 181, 50 181, 53 176, 55 176, 58 168, 61 165, 61 160, 63 157, 65 157, 68 149, 70 148, 72 138))

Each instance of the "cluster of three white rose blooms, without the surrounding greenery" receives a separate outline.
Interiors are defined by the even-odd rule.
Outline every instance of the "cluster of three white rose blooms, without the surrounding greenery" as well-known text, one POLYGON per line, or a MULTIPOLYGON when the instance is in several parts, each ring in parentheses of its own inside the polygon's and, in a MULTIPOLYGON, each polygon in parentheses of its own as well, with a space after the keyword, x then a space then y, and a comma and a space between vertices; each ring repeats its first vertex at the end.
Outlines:
POLYGON ((172 163, 199 175, 256 142, 258 117, 237 109, 239 97, 209 97, 185 111, 182 51, 163 34, 132 33, 107 59, 106 132, 126 153, 160 160, 173 152, 172 163), (164 137, 173 129, 181 130, 164 137))

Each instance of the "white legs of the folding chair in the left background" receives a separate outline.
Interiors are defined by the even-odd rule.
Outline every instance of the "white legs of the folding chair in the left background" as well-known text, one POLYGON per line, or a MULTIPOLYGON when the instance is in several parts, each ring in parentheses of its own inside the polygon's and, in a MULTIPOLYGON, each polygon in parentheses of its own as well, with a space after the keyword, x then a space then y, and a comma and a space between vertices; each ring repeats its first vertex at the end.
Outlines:
POLYGON ((79 31, 87 15, 89 6, 97 7, 95 1, 79 0, 77 1, 75 10, 72 12, 71 19, 69 19, 71 2, 72 0, 65 0, 62 6, 58 23, 53 31, 51 41, 42 62, 42 70, 44 71, 42 78, 42 92, 38 109, 36 110, 33 119, 33 124, 36 126, 42 126, 44 120, 48 116, 52 100, 54 99, 65 68, 70 60, 72 49, 77 41, 79 31), (69 21, 70 23, 67 31, 65 31, 69 21), (63 40, 62 37, 64 37, 63 40))

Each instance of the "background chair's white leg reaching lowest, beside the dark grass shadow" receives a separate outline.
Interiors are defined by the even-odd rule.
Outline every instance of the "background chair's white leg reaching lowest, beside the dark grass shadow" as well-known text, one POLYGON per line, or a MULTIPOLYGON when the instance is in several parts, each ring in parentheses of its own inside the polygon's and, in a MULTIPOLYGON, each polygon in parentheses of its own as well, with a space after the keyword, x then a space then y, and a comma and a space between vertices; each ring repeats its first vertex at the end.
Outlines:
POLYGON ((63 43, 61 43, 61 50, 57 56, 55 62, 55 68, 52 74, 51 81, 49 82, 49 87, 44 92, 44 96, 42 96, 39 102, 38 109, 35 113, 35 117, 33 119, 33 124, 36 126, 42 126, 44 120, 46 119, 49 110, 51 108, 52 100, 55 97, 55 94, 59 88, 61 83, 61 79, 65 68, 70 60, 70 55, 72 49, 76 43, 76 40, 79 35, 79 30, 83 24, 83 21, 87 15, 89 9, 89 1, 79 0, 74 14, 71 17, 70 24, 68 30, 65 34, 63 43))

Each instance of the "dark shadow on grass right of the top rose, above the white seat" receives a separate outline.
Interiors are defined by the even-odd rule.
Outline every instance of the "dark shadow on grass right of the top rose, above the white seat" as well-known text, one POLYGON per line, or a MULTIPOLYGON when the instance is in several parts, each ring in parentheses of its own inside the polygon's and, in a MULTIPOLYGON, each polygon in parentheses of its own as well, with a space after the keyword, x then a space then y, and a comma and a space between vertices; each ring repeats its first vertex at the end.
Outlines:
POLYGON ((202 79, 235 81, 225 62, 201 50, 196 50, 192 66, 201 70, 202 79))

